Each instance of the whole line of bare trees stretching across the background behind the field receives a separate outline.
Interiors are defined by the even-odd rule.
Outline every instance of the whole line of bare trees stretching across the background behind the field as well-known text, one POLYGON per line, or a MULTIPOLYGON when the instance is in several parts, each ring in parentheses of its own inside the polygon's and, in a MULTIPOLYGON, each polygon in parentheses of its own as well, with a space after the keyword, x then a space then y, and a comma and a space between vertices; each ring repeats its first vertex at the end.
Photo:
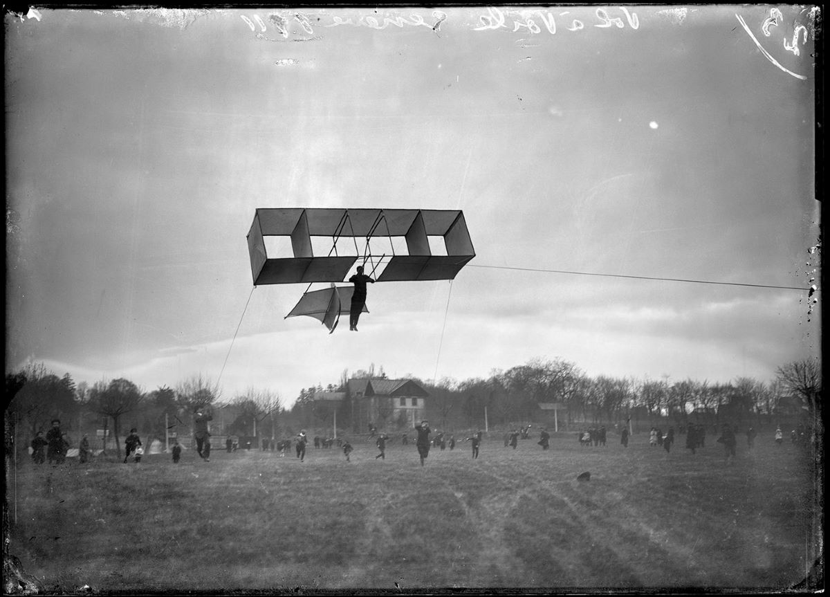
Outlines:
MULTIPOLYGON (((281 434, 296 433, 300 428, 326 428, 333 422, 334 411, 339 428, 355 433, 364 431, 355 416, 355 397, 349 396, 349 379, 386 379, 383 367, 374 365, 325 386, 326 391, 344 392, 342 403, 315 400, 324 391, 321 384, 302 389, 291 409, 286 409, 279 395, 270 390, 249 388, 223 401, 222 392, 211 379, 193 376, 174 388, 160 386, 149 392, 129 379, 99 381, 91 386, 76 383, 70 374, 59 377, 42 364, 28 365, 6 375, 6 437, 34 437, 46 430, 51 419, 61 419, 62 426, 75 433, 100 430, 104 447, 107 438, 116 438, 110 446, 120 458, 120 442, 126 435, 125 422, 147 437, 164 438, 170 430, 189 435, 193 413, 197 408, 232 404, 235 420, 227 433, 247 435, 248 430, 262 428, 266 418, 271 428, 281 434), (276 423, 275 423, 276 421, 276 423)), ((427 391, 427 417, 442 429, 506 428, 519 423, 538 421, 540 403, 557 403, 561 423, 571 428, 581 423, 651 424, 671 421, 678 426, 688 422, 720 424, 775 424, 776 418, 803 415, 809 424, 822 421, 821 365, 815 360, 794 361, 782 365, 775 378, 767 383, 747 377, 734 381, 709 383, 706 380, 618 378, 589 376, 577 365, 563 359, 532 359, 525 365, 496 369, 485 378, 457 381, 445 378, 429 382, 409 376, 427 391), (485 414, 486 413, 486 414, 485 414)), ((391 403, 379 410, 378 428, 403 428, 405 418, 393 420, 391 403)), ((256 435, 261 435, 256 433, 256 435)), ((27 441, 22 442, 25 447, 27 441)))

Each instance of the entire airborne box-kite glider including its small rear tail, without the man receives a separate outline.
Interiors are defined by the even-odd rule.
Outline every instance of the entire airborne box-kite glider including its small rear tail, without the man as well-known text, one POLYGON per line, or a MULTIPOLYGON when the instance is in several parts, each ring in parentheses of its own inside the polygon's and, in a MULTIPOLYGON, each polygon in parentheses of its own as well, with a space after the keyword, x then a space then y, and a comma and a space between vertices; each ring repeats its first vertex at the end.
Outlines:
MULTIPOLYGON (((354 288, 337 284, 356 262, 369 264, 378 282, 452 280, 476 257, 457 209, 260 208, 247 239, 254 286, 308 283, 286 317, 315 317, 330 332, 349 313, 354 288), (267 237, 283 237, 284 254, 269 254, 267 237), (315 282, 330 287, 309 291, 315 282)), ((369 312, 365 305, 362 312, 369 312)))

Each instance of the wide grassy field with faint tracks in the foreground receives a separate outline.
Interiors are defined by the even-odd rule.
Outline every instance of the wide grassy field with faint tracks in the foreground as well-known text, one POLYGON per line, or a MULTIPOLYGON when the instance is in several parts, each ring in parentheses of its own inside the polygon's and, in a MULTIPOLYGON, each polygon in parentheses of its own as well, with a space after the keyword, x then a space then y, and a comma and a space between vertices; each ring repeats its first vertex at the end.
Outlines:
POLYGON ((761 436, 727 464, 573 433, 505 448, 354 443, 7 470, 10 552, 47 591, 425 588, 780 590, 818 557, 803 453, 761 436), (580 472, 589 482, 577 482, 580 472))

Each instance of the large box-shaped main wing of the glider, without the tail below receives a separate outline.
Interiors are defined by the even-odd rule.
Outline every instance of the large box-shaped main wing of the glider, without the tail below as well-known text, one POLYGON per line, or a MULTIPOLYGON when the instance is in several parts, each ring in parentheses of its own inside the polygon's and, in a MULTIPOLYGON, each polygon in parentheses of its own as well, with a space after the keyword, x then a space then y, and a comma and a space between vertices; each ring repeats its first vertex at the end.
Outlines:
POLYGON ((476 252, 461 210, 259 208, 248 232, 254 286, 339 282, 358 259, 379 256, 316 257, 311 237, 404 237, 407 255, 393 255, 377 281, 452 280, 476 252), (271 256, 265 237, 291 237, 291 256, 271 256), (429 237, 443 237, 447 255, 432 255, 429 237))

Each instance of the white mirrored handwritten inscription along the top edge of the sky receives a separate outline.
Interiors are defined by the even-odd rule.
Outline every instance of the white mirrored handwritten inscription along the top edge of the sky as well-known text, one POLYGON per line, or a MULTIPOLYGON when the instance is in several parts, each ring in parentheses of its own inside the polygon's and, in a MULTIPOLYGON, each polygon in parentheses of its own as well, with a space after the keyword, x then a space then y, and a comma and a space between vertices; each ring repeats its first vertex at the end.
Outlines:
MULTIPOLYGON (((590 18, 573 16, 568 10, 506 10, 496 7, 487 7, 486 12, 466 24, 472 31, 493 31, 505 29, 522 33, 547 33, 556 35, 558 30, 565 29, 576 32, 586 27, 600 29, 631 29, 640 28, 640 20, 636 12, 625 7, 596 8, 590 18), (610 12, 609 12, 610 11, 610 12)), ((367 27, 381 31, 390 27, 403 29, 404 27, 427 27, 434 32, 440 32, 442 24, 447 22, 447 13, 434 10, 428 16, 412 12, 407 15, 396 16, 365 16, 344 17, 342 15, 324 14, 310 16, 304 12, 273 12, 263 19, 260 15, 241 15, 242 21, 247 24, 251 32, 262 36, 272 29, 279 36, 289 37, 314 36, 320 29, 330 27, 367 27), (326 19, 324 21, 324 18, 326 19)))

